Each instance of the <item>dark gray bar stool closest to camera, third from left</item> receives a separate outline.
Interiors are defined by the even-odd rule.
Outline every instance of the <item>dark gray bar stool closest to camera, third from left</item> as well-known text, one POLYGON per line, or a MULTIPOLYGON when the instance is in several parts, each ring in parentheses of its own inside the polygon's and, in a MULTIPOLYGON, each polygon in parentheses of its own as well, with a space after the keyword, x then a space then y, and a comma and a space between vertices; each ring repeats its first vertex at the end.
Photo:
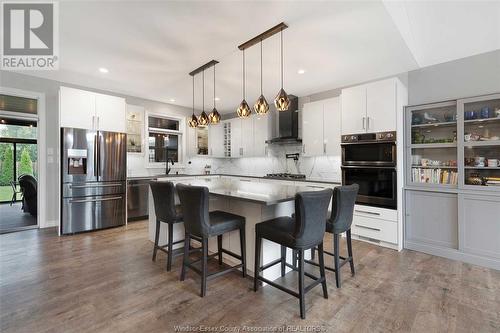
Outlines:
POLYGON ((304 319, 305 313, 305 293, 321 284, 323 287, 323 297, 328 298, 326 289, 325 266, 323 261, 323 237, 325 235, 325 224, 328 213, 328 205, 332 198, 332 190, 322 190, 313 192, 302 192, 295 195, 295 218, 282 216, 272 220, 258 223, 255 226, 255 276, 254 291, 257 291, 259 282, 263 281, 284 292, 295 296, 300 301, 300 317, 304 319), (281 245, 281 258, 272 261, 264 266, 260 266, 260 252, 262 239, 268 239, 281 245), (304 271, 304 251, 313 247, 318 247, 320 277, 316 277, 304 271), (295 265, 286 262, 286 248, 291 248, 298 253, 298 269, 295 265), (299 272, 299 291, 285 288, 273 281, 270 281, 260 272, 281 263, 281 276, 285 275, 285 267, 290 267, 299 272), (313 280, 309 286, 304 287, 304 276, 313 280))

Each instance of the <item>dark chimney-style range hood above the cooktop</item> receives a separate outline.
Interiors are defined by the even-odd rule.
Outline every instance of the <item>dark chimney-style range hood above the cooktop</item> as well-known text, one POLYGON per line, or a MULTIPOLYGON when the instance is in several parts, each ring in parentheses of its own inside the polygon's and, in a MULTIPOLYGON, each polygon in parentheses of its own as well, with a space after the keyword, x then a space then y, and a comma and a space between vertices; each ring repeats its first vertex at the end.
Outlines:
POLYGON ((299 139, 299 99, 297 96, 289 95, 290 107, 288 111, 276 111, 278 137, 267 140, 267 144, 300 144, 299 139))

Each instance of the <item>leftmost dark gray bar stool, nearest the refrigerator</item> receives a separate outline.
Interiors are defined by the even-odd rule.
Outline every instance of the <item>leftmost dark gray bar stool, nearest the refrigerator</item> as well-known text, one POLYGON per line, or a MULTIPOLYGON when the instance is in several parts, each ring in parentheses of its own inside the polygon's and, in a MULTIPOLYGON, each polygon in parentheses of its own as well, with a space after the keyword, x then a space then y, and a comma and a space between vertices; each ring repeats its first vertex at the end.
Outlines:
POLYGON ((173 246, 184 242, 183 239, 176 242, 173 241, 174 224, 182 222, 180 206, 175 205, 175 187, 172 182, 153 180, 149 183, 149 186, 151 186, 151 192, 153 193, 156 214, 153 261, 156 261, 156 252, 158 250, 165 252, 167 254, 167 271, 170 271, 172 268, 172 258, 182 255, 182 252, 175 255, 173 253, 173 246), (158 242, 160 239, 160 226, 162 222, 168 225, 168 243, 160 246, 158 242))

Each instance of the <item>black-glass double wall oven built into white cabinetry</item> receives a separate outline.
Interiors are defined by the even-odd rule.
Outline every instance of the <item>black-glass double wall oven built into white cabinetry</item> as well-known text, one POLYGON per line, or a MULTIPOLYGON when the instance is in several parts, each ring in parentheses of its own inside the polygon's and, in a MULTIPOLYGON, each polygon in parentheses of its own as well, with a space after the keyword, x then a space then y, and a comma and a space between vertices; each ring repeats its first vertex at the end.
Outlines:
POLYGON ((357 203, 397 207, 396 132, 342 136, 342 184, 358 184, 357 203))

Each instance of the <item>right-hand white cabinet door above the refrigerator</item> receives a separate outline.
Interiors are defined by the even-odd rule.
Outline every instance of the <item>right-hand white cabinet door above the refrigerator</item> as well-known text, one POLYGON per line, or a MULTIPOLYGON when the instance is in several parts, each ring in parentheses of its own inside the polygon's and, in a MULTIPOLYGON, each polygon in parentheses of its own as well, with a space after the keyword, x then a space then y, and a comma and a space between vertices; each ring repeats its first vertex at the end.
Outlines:
POLYGON ((100 131, 127 131, 125 99, 95 94, 96 129, 100 131))

